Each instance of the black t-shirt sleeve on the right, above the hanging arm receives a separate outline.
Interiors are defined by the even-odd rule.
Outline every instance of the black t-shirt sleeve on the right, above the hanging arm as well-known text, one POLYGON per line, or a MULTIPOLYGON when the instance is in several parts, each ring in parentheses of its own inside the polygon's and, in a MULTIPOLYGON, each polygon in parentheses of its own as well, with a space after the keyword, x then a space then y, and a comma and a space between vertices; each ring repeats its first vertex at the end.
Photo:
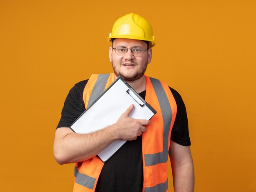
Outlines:
POLYGON ((185 104, 176 90, 173 88, 170 88, 170 90, 177 104, 177 114, 171 132, 171 140, 182 146, 190 146, 189 124, 185 104))

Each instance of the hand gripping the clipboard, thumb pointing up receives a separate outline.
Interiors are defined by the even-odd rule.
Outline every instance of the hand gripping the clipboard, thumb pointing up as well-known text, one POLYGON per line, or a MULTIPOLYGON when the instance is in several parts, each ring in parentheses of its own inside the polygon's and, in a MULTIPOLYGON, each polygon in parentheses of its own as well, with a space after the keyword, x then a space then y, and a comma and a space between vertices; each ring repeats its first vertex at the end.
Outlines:
POLYGON ((115 124, 117 128, 118 138, 122 140, 135 140, 137 136, 140 136, 142 132, 145 132, 147 128, 146 125, 150 124, 147 119, 132 119, 129 117, 132 112, 134 105, 131 104, 130 107, 119 117, 117 123, 115 124))

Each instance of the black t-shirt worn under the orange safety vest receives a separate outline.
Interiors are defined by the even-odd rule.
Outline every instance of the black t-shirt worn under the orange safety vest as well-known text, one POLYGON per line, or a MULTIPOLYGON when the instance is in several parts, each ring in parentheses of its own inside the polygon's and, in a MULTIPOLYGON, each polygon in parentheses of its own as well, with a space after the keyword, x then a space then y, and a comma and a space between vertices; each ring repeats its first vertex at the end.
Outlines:
MULTIPOLYGON (((69 127, 84 111, 83 90, 88 80, 81 81, 70 90, 65 100, 61 119, 57 126, 69 127)), ((186 108, 180 94, 170 88, 177 104, 177 114, 171 140, 182 146, 190 146, 186 108)), ((145 99, 146 90, 139 93, 145 99)), ((96 192, 141 192, 143 186, 142 135, 134 141, 127 141, 107 162, 105 162, 96 192)))

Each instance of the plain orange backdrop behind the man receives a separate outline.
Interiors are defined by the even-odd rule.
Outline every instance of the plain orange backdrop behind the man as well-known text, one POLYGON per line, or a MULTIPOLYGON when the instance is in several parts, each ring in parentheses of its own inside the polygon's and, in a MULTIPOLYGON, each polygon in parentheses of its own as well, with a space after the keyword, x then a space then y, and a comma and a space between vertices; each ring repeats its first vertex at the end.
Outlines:
POLYGON ((130 12, 154 29, 146 74, 186 104, 195 191, 256 191, 255 0, 0 0, 1 191, 72 191, 52 152, 63 102, 112 71, 107 36, 130 12))

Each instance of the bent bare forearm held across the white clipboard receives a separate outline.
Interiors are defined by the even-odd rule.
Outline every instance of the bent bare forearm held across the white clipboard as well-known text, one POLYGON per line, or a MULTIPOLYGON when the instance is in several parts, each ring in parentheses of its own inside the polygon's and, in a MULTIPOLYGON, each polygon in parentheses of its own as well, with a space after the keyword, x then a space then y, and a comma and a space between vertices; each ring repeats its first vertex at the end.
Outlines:
POLYGON ((112 126, 90 134, 76 134, 69 128, 58 129, 54 141, 54 157, 60 164, 90 159, 117 140, 112 126))

